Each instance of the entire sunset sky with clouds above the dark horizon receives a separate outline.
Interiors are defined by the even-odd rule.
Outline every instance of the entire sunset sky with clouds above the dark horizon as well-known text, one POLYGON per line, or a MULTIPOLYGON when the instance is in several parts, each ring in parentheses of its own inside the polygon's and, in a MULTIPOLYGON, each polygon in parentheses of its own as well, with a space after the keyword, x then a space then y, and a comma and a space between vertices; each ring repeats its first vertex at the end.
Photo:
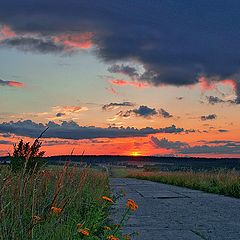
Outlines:
POLYGON ((3 0, 0 155, 240 157, 237 0, 3 0))

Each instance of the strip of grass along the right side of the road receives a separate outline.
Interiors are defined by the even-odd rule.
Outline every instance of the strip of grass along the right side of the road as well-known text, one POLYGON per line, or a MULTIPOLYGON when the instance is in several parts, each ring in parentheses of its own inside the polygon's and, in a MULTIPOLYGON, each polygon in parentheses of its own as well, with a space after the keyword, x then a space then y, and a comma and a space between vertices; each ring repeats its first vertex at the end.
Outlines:
POLYGON ((240 174, 219 172, 128 172, 127 177, 240 198, 240 174))

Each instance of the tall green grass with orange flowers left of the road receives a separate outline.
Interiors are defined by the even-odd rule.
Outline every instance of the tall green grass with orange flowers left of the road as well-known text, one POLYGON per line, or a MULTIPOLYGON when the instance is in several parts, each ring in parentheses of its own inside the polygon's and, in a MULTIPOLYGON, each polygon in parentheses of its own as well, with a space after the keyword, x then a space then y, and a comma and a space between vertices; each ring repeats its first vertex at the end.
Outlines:
POLYGON ((65 165, 24 175, 0 166, 1 240, 124 239, 117 224, 106 226, 112 203, 101 171, 65 165))

